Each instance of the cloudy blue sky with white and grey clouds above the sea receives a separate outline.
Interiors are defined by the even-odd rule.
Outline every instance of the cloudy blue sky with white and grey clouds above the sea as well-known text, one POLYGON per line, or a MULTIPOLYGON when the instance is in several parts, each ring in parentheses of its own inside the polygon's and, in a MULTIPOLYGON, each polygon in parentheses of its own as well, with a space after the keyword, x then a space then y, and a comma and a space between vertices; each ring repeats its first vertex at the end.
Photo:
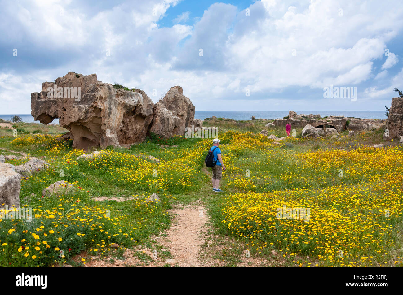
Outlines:
POLYGON ((179 85, 196 111, 379 110, 403 90, 403 5, 383 0, 1 0, 0 113, 69 71, 179 85), (326 87, 356 96, 324 97, 326 87), (357 88, 355 88, 357 87, 357 88))

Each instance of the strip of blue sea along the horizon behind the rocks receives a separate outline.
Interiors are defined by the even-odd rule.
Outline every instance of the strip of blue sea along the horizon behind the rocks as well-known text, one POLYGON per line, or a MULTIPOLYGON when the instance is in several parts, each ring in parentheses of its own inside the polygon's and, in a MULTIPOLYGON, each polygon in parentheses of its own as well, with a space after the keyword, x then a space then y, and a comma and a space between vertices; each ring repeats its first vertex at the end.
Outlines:
MULTIPOLYGON (((385 111, 304 111, 295 110, 298 114, 320 114, 322 117, 326 116, 345 116, 355 117, 361 119, 381 119, 386 120, 385 111)), ((23 122, 39 123, 35 121, 31 114, 0 114, 3 120, 10 120, 12 116, 20 116, 23 122)), ((204 120, 216 116, 217 118, 228 118, 233 120, 251 120, 252 116, 256 119, 269 119, 274 120, 288 116, 288 111, 195 111, 195 119, 204 120)), ((53 120, 52 124, 59 124, 59 119, 53 120)))

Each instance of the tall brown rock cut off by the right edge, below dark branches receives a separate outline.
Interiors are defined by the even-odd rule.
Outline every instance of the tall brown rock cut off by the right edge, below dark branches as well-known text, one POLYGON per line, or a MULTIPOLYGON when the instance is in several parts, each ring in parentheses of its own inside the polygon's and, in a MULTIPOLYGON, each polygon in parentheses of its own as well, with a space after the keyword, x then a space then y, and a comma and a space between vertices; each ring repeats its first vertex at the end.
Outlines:
POLYGON ((393 97, 392 105, 389 109, 388 120, 386 120, 386 129, 383 138, 393 140, 403 135, 403 98, 393 97), (388 135, 388 136, 387 136, 388 135))

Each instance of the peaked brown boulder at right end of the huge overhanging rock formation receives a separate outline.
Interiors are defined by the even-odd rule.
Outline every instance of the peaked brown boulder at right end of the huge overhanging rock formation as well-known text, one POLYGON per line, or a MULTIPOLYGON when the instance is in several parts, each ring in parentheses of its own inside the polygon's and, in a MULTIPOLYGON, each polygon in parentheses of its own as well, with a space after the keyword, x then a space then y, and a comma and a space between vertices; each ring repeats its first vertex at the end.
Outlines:
POLYGON ((183 95, 180 86, 169 89, 164 98, 154 105, 154 119, 150 132, 168 138, 185 134, 195 117, 195 106, 189 97, 183 95))

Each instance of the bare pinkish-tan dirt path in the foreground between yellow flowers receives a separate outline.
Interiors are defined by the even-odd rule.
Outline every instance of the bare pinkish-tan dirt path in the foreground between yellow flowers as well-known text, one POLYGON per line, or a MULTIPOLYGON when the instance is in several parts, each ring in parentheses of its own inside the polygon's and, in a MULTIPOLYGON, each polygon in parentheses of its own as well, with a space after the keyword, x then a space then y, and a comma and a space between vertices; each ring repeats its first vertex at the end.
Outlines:
MULTIPOLYGON (((174 214, 172 226, 166 234, 168 237, 157 238, 174 257, 169 263, 181 267, 203 267, 204 262, 199 259, 201 246, 206 240, 207 221, 206 208, 199 204, 181 205, 170 210, 174 214)), ((210 265, 209 265, 210 266, 210 265)))

